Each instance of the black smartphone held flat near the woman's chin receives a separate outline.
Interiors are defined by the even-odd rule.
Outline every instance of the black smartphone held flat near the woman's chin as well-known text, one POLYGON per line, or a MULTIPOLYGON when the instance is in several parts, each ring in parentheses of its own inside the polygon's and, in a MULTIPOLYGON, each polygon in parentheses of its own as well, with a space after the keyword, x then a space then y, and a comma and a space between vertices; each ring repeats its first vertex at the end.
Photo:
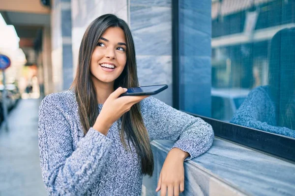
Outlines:
POLYGON ((168 88, 168 85, 151 85, 151 86, 139 86, 129 88, 125 93, 121 94, 119 97, 122 96, 141 96, 141 95, 155 95, 164 91, 168 88))

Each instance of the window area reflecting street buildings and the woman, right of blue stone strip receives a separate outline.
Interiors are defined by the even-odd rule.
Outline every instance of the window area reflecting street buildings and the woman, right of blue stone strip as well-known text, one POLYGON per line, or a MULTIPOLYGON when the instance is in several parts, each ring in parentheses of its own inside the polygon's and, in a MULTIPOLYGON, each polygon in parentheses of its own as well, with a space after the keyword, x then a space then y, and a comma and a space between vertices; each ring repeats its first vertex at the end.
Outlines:
POLYGON ((295 1, 212 0, 211 117, 295 138, 295 1))

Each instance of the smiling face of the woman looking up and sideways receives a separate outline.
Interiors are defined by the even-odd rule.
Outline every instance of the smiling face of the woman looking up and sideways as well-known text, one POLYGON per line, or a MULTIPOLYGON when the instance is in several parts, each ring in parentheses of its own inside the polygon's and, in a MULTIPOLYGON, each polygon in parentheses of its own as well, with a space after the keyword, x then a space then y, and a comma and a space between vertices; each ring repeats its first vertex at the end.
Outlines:
POLYGON ((95 84, 109 83, 123 72, 126 64, 126 40, 120 27, 109 27, 98 40, 90 61, 91 79, 95 84))

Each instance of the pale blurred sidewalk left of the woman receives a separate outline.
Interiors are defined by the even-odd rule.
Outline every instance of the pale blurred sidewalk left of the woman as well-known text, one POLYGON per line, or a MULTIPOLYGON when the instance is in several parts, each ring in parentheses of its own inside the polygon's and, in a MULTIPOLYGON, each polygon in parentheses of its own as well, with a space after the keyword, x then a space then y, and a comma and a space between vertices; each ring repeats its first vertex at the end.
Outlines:
POLYGON ((38 148, 39 99, 21 99, 0 129, 0 196, 47 196, 38 148))

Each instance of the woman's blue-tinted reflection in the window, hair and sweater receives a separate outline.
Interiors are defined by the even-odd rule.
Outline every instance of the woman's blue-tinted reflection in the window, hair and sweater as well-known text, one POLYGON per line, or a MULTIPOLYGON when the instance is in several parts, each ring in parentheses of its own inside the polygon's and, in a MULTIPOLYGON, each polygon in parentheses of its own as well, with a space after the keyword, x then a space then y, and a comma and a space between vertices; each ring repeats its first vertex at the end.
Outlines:
POLYGON ((232 123, 295 138, 295 27, 271 39, 269 85, 249 93, 232 123))

